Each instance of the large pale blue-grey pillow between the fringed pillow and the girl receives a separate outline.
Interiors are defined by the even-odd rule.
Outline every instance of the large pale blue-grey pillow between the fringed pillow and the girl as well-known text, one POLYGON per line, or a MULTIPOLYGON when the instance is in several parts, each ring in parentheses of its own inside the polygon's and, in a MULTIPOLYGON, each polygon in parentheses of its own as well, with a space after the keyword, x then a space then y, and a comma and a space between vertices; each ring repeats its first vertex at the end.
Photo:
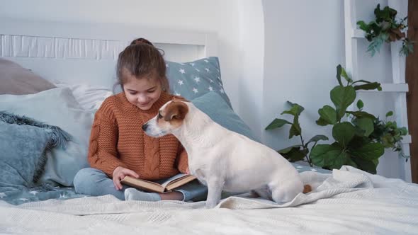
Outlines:
POLYGON ((0 95, 0 110, 56 125, 72 135, 73 141, 67 143, 67 149, 55 148, 48 152, 40 183, 71 186, 75 174, 81 168, 89 167, 87 151, 94 112, 82 109, 69 88, 53 88, 23 96, 0 95))

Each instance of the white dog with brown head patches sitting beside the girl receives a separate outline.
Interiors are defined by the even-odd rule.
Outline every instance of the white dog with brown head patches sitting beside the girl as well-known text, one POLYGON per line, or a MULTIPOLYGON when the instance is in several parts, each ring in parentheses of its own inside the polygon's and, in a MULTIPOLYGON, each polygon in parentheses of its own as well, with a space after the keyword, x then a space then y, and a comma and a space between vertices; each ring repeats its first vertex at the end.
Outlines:
POLYGON ((218 125, 191 102, 174 98, 142 130, 152 137, 174 134, 179 139, 188 153, 191 174, 208 186, 208 208, 218 204, 222 190, 251 190, 275 202, 288 202, 310 191, 283 156, 218 125))

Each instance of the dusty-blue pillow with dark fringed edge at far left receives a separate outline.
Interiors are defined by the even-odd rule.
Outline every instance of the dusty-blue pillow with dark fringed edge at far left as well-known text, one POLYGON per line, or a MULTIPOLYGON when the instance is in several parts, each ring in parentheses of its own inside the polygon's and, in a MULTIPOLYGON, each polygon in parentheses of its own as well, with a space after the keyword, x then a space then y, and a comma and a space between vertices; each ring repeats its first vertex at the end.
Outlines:
POLYGON ((43 173, 52 130, 0 121, 0 193, 32 187, 43 173))

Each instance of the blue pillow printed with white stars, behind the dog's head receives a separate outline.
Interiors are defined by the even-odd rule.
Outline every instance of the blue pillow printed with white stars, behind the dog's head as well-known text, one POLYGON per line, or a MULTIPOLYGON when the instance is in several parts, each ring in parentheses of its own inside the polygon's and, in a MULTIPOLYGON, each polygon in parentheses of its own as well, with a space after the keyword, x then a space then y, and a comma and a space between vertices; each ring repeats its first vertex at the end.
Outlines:
POLYGON ((172 94, 191 101, 205 93, 216 92, 232 107, 223 88, 218 57, 184 63, 167 61, 166 69, 172 94))

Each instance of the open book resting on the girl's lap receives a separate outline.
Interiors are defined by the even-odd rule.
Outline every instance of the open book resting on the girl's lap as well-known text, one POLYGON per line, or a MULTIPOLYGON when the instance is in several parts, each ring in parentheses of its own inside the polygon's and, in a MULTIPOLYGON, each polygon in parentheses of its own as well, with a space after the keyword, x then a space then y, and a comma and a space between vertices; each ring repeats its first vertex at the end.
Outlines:
POLYGON ((139 178, 133 178, 130 176, 125 176, 123 180, 120 180, 120 183, 125 185, 130 185, 131 187, 138 188, 147 192, 154 193, 166 193, 170 192, 174 188, 177 188, 181 185, 185 185, 191 180, 195 180, 196 176, 186 175, 186 174, 177 174, 167 180, 164 180, 163 183, 155 183, 149 180, 142 180, 139 178))

